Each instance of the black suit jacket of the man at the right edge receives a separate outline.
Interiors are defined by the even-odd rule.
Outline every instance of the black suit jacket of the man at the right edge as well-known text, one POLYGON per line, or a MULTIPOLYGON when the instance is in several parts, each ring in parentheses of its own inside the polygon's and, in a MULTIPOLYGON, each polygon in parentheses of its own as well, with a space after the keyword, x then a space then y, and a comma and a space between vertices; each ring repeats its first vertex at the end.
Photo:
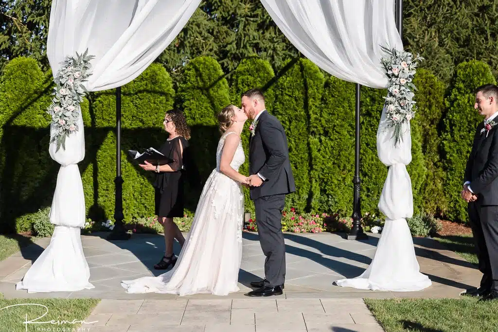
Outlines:
POLYGON ((465 168, 464 183, 478 194, 480 205, 498 205, 498 133, 494 126, 486 137, 484 122, 476 129, 474 144, 465 168))

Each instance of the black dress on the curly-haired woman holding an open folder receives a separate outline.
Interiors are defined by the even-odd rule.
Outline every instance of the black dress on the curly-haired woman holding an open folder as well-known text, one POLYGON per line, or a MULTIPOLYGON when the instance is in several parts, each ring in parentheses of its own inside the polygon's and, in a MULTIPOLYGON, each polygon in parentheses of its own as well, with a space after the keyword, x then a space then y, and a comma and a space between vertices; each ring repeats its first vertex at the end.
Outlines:
POLYGON ((178 136, 161 146, 159 152, 173 159, 168 164, 175 172, 160 172, 154 182, 155 188, 155 214, 158 218, 183 217, 183 158, 180 144, 185 153, 188 141, 178 136))

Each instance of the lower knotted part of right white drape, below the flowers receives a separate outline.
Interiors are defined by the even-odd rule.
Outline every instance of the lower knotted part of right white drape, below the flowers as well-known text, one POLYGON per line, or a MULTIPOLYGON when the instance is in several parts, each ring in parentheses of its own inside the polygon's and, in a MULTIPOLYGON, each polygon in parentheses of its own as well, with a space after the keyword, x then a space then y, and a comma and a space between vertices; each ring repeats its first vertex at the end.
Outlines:
MULTIPOLYGON (((411 136, 406 134, 403 142, 394 147, 393 130, 386 127, 384 109, 377 130, 377 155, 384 165, 389 166, 389 171, 378 202, 386 220, 375 256, 365 272, 353 279, 336 281, 338 286, 410 292, 431 285, 429 278, 420 273, 405 219, 413 216, 411 180, 406 171, 406 165, 411 162, 411 136)), ((409 130, 409 124, 403 130, 409 130)))

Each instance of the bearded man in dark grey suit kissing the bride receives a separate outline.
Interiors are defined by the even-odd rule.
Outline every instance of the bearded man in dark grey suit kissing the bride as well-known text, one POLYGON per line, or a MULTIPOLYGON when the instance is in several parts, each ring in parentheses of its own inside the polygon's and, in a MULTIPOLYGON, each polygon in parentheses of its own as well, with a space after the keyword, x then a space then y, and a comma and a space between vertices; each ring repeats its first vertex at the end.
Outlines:
POLYGON ((281 295, 285 281, 285 243, 280 221, 285 195, 296 191, 287 136, 280 121, 266 111, 263 93, 258 89, 242 95, 242 109, 252 120, 249 126, 249 192, 256 209, 259 242, 266 256, 264 280, 251 282, 257 289, 246 295, 281 295))

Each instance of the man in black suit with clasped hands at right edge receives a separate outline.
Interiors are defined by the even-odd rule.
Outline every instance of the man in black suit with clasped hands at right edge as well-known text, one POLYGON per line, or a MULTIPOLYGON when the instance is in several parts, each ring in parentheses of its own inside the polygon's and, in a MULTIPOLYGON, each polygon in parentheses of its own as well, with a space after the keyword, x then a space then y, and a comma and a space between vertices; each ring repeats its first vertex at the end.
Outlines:
POLYGON ((498 299, 498 87, 486 84, 476 89, 474 108, 485 116, 479 123, 467 161, 462 198, 468 205, 479 270, 479 288, 461 295, 498 299))

